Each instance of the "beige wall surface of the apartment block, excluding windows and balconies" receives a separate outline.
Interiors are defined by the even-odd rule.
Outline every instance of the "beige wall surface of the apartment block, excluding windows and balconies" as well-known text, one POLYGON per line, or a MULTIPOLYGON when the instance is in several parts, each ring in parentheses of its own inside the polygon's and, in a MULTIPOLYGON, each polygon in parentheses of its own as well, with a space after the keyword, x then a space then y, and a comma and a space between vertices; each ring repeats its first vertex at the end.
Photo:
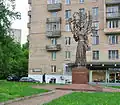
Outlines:
MULTIPOLYGON (((61 50, 56 52, 56 60, 51 59, 51 52, 47 52, 46 45, 51 45, 51 39, 46 37, 46 19, 52 15, 47 10, 47 0, 31 0, 31 14, 30 14, 30 27, 29 27, 29 76, 42 75, 47 73, 49 75, 62 75, 64 72, 64 65, 67 63, 75 62, 75 54, 77 43, 72 38, 71 32, 65 31, 65 10, 71 10, 71 13, 78 11, 80 8, 85 8, 86 11, 92 11, 93 7, 98 7, 99 16, 99 44, 92 45, 92 37, 89 35, 89 44, 91 50, 87 51, 88 62, 119 62, 118 60, 108 59, 108 50, 119 50, 120 49, 120 36, 118 38, 119 44, 109 45, 108 36, 105 31, 109 32, 106 28, 106 5, 105 0, 85 0, 84 3, 79 3, 79 0, 71 0, 70 5, 65 4, 65 0, 61 0, 62 10, 58 11, 57 17, 61 17, 61 37, 57 38, 57 43, 61 44, 61 50), (65 37, 71 37, 71 45, 65 45, 65 37), (99 50, 99 60, 92 59, 92 51, 99 50), (71 52, 71 58, 65 59, 65 51, 71 52), (56 65, 57 71, 51 72, 51 65, 56 65), (37 72, 33 72, 33 69, 39 69, 37 72)), ((118 29, 120 30, 120 29, 118 29)), ((111 29, 110 31, 115 31, 111 29)), ((120 55, 120 51, 119 51, 120 55)))

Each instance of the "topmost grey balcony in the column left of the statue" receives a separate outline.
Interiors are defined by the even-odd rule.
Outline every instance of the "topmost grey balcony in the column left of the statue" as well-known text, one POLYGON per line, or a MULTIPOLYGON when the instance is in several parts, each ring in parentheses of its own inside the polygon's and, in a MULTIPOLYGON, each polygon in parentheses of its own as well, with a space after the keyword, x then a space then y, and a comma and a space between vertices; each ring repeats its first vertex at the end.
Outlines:
POLYGON ((48 11, 60 11, 62 9, 61 3, 47 4, 48 11))

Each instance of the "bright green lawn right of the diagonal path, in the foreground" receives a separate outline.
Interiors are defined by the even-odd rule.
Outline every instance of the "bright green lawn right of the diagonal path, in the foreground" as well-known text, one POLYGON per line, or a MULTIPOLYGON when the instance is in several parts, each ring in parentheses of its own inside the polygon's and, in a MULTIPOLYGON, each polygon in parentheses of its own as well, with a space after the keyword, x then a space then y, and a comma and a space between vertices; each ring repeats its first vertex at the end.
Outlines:
POLYGON ((120 93, 74 92, 44 105, 120 105, 120 93))

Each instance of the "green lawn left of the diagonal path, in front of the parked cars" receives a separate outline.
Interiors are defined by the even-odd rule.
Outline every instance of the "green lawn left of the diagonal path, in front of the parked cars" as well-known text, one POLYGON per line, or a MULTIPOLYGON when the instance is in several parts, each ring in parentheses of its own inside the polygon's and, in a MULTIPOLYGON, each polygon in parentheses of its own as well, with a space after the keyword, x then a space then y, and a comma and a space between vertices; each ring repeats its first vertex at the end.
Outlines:
POLYGON ((37 84, 0 81, 0 102, 18 97, 48 92, 48 90, 32 88, 33 85, 37 84))

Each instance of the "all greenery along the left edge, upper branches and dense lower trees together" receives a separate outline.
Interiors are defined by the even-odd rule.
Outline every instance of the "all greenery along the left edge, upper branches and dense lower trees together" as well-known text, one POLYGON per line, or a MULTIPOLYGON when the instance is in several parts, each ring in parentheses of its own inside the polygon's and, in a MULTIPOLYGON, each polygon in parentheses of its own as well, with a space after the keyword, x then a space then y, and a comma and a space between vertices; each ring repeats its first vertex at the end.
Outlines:
POLYGON ((28 48, 13 42, 9 37, 12 21, 20 19, 15 12, 15 0, 0 0, 0 79, 9 74, 26 76, 28 70, 28 48))

